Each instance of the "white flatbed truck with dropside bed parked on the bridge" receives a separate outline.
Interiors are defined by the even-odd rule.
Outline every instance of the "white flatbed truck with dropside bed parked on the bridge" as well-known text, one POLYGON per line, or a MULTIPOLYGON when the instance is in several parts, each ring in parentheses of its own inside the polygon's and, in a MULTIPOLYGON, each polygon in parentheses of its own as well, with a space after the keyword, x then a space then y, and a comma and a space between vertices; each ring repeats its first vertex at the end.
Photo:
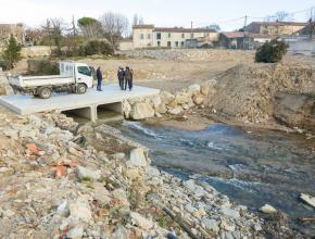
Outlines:
POLYGON ((68 91, 85 93, 93 87, 93 77, 87 64, 60 62, 60 75, 49 76, 9 76, 14 92, 30 93, 48 99, 52 92, 68 91))

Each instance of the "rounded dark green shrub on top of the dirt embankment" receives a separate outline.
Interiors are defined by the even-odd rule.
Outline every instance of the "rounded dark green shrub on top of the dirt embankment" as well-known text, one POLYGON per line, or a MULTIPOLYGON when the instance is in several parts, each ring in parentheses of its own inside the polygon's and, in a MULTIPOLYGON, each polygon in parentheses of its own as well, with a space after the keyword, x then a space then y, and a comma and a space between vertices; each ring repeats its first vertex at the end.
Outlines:
POLYGON ((255 54, 255 62, 275 63, 282 60, 289 46, 285 41, 272 40, 260 47, 255 54))

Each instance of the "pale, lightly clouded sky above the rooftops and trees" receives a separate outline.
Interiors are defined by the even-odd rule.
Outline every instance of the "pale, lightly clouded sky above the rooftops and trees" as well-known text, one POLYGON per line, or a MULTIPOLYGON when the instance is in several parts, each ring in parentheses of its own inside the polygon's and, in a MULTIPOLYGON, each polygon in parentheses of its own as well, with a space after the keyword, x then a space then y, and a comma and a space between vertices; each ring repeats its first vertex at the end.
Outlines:
MULTIPOLYGON (((131 22, 135 13, 141 15, 146 24, 156 26, 194 27, 218 23, 224 30, 242 27, 249 22, 261 21, 277 11, 297 12, 315 7, 314 0, 0 0, 0 23, 23 22, 28 26, 39 26, 47 17, 62 17, 71 21, 81 16, 98 18, 105 12, 125 14, 131 22)), ((315 10, 314 10, 315 11, 315 10)), ((310 11, 294 14, 294 20, 305 21, 310 11)))

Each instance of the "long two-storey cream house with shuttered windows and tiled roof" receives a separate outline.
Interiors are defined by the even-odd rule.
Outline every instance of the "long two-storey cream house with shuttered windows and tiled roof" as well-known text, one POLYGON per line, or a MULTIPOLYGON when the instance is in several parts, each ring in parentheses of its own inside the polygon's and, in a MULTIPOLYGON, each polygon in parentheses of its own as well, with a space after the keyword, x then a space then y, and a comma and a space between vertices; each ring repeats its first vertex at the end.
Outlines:
POLYGON ((199 40, 215 39, 218 33, 206 28, 155 27, 134 25, 134 48, 194 48, 199 40))

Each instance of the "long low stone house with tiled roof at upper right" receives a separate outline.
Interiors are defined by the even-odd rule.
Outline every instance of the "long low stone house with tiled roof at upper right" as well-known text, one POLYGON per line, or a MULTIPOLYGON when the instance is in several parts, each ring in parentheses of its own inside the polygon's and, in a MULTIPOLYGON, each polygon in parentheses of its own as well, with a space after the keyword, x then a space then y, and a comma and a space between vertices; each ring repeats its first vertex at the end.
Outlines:
POLYGON ((307 23, 295 22, 252 22, 245 26, 245 32, 262 35, 292 35, 305 27, 307 23))

